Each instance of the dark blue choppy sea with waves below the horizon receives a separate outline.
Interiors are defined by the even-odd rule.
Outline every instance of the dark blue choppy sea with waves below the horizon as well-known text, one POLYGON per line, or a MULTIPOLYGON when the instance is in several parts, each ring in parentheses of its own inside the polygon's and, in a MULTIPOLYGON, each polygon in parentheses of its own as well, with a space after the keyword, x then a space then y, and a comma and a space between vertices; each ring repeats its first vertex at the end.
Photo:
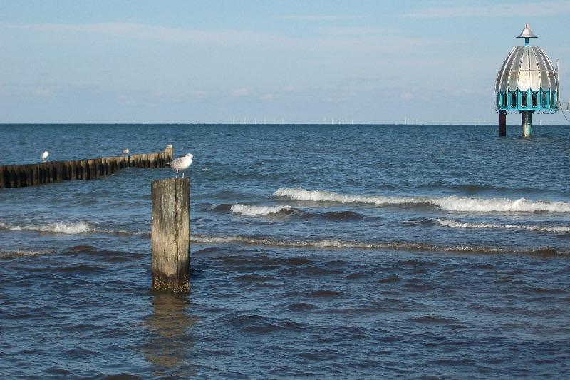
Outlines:
POLYGON ((0 165, 192 153, 188 294, 152 180, 0 189, 5 379, 570 377, 570 128, 0 125, 0 165))

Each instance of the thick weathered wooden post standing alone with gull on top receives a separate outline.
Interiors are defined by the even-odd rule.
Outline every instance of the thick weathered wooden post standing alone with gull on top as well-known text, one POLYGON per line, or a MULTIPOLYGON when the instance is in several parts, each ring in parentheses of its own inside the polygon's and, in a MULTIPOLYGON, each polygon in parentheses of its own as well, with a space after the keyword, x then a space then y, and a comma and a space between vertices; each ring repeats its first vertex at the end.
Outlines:
POLYGON ((151 186, 152 288, 190 290, 190 179, 154 180, 151 186))

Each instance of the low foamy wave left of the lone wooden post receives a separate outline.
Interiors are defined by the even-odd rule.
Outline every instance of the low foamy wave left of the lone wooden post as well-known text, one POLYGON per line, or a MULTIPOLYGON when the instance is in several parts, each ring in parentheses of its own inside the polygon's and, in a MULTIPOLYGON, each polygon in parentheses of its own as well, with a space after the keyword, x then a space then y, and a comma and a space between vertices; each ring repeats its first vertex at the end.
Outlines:
POLYGON ((11 231, 37 231, 48 232, 54 234, 77 235, 86 233, 104 233, 114 235, 148 235, 148 232, 137 232, 128 230, 108 230, 101 228, 95 223, 79 221, 79 222, 52 222, 38 225, 9 225, 0 222, 0 230, 11 231))

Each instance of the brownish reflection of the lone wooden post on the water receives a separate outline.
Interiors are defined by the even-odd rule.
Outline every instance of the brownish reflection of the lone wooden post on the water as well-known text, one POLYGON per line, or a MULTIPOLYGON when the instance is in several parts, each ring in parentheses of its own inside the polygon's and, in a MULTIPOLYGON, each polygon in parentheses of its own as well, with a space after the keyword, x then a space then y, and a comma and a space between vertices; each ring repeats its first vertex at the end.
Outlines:
POLYGON ((192 327, 188 296, 152 292, 152 314, 146 321, 150 340, 145 356, 155 365, 154 376, 195 376, 190 361, 192 327))

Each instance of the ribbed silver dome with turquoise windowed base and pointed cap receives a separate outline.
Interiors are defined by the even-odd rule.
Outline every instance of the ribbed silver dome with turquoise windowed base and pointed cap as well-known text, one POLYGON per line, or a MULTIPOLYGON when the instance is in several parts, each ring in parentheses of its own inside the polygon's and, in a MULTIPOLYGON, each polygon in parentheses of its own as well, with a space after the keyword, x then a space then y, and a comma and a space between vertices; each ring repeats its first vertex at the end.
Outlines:
POLYGON ((524 46, 514 46, 497 74, 494 93, 497 111, 558 111, 558 71, 540 46, 529 45, 537 38, 525 24, 517 38, 524 46))

